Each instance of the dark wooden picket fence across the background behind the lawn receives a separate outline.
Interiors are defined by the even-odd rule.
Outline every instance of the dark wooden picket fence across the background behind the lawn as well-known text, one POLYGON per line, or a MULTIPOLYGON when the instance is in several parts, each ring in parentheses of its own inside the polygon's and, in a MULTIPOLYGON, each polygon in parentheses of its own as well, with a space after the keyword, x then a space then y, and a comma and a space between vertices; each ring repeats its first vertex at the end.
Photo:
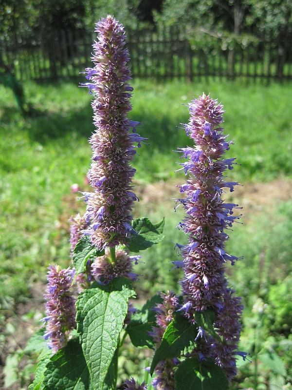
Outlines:
MULTIPOLYGON (((127 31, 133 77, 189 79, 218 77, 292 78, 292 36, 272 39, 261 35, 246 46, 222 49, 221 42, 195 48, 176 28, 159 32, 127 31)), ((80 77, 91 67, 92 41, 83 30, 60 30, 42 37, 0 41, 2 63, 20 80, 80 77)))

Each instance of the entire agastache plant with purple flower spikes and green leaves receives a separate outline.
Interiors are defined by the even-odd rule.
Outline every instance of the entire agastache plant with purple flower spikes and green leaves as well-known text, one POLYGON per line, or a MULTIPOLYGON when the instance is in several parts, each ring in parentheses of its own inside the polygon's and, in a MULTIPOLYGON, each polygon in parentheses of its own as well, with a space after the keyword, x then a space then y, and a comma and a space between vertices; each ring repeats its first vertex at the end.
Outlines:
POLYGON ((183 267, 183 292, 158 293, 137 310, 129 302, 138 279, 133 265, 141 250, 164 238, 164 219, 151 223, 132 216, 138 198, 130 162, 135 144, 140 147, 146 138, 135 133, 140 123, 127 117, 133 89, 126 36, 111 16, 95 31, 94 67, 86 68, 88 82, 82 84, 93 96, 96 126, 90 139, 92 191, 82 193, 85 214, 71 219, 74 269, 49 267, 43 321, 50 349, 42 351, 29 390, 116 390, 119 351, 127 336, 154 355, 138 381, 128 378, 119 389, 227 390, 236 373, 235 356, 245 354, 237 351, 241 300, 225 277, 227 260, 234 264, 237 257, 225 252, 224 230, 239 216, 233 215, 238 206, 221 198, 223 188, 233 191, 237 184, 223 177, 234 159, 222 159, 231 143, 220 127, 222 106, 203 95, 190 103, 191 119, 184 125, 195 147, 181 149, 189 177, 180 186, 185 197, 176 205, 186 211, 179 228, 188 235, 187 245, 176 245, 183 259, 174 261, 174 268, 183 267))

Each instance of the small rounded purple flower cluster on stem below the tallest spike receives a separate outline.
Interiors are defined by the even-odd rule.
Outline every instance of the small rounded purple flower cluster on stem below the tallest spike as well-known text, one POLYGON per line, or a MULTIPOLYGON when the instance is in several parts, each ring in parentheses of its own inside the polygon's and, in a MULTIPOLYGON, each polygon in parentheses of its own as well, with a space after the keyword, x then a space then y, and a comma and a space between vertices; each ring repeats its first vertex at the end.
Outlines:
POLYGON ((125 276, 131 281, 138 279, 137 273, 133 273, 133 262, 138 263, 141 256, 129 256, 127 251, 117 249, 115 251, 115 262, 112 262, 110 249, 106 249, 103 256, 96 257, 92 264, 92 275, 103 284, 108 284, 118 276, 125 276))

